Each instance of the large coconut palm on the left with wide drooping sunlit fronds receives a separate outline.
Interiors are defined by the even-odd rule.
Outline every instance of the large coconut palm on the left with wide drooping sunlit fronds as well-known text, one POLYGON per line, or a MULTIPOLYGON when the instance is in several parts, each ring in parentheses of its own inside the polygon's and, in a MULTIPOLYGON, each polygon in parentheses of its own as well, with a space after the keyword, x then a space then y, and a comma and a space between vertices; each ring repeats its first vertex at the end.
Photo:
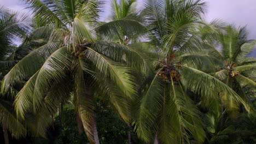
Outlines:
MULTIPOLYGON (((2 83, 2 93, 18 81, 27 80, 15 99, 17 116, 40 117, 38 129, 45 129, 57 106, 73 97, 79 123, 83 124, 91 143, 99 143, 94 97, 109 100, 124 121, 130 121, 129 99, 136 94, 132 76, 134 68, 144 68, 139 49, 143 46, 122 45, 116 41, 98 40, 99 1, 25 1, 36 20, 54 27, 47 43, 28 53, 19 61, 2 83)), ((121 27, 121 26, 120 26, 121 27)))

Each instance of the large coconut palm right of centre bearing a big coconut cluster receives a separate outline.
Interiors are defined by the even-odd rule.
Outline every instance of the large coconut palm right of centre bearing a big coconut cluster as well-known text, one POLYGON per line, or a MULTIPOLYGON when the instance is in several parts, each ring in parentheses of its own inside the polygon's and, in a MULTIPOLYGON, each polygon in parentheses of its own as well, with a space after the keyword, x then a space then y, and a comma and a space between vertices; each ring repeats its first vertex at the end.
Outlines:
POLYGON ((161 55, 154 73, 139 88, 133 107, 135 130, 147 142, 152 137, 155 143, 205 140, 201 112, 189 93, 208 103, 218 101, 219 93, 228 93, 230 100, 247 106, 232 88, 207 73, 214 58, 201 52, 207 41, 199 29, 214 27, 201 21, 204 7, 200 0, 149 0, 143 10, 151 43, 161 55))

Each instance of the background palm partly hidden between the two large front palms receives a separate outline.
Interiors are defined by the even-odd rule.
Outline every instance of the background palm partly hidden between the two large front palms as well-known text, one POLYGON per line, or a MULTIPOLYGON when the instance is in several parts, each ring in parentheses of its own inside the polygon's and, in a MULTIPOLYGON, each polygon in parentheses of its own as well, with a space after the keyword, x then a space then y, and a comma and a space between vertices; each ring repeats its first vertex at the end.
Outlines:
MULTIPOLYGON (((147 43, 141 43, 140 40, 142 35, 146 33, 146 27, 142 24, 143 19, 139 15, 139 10, 137 7, 136 0, 122 0, 118 1, 113 0, 111 2, 110 15, 106 19, 107 22, 100 22, 100 26, 97 27, 98 38, 106 41, 116 41, 119 44, 124 46, 132 47, 144 47, 145 49, 134 49, 143 55, 144 58, 147 58, 149 54, 148 49, 150 47, 147 43)), ((150 53, 151 54, 151 53, 150 53)), ((144 63, 148 65, 149 59, 143 59, 138 61, 138 63, 144 63)), ((136 64, 135 64, 136 65, 136 64)), ((130 65, 133 69, 140 71, 139 77, 143 77, 149 69, 149 67, 134 67, 130 65)), ((135 74, 133 74, 135 75, 135 74)), ((127 123, 130 127, 130 123, 127 123)), ((131 143, 131 133, 130 131, 127 134, 128 143, 131 143)))

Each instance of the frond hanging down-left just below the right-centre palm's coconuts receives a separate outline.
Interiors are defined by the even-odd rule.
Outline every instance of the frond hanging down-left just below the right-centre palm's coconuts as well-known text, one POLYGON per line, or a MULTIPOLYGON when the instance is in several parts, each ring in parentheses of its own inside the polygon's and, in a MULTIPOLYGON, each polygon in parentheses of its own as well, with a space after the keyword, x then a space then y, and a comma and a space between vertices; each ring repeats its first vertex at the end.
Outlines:
MULTIPOLYGON (((160 71, 160 70, 159 70, 160 71)), ((140 97, 133 106, 133 125, 135 131, 144 141, 150 141, 152 135, 156 133, 154 125, 158 112, 162 107, 162 92, 164 83, 158 77, 158 73, 148 77, 141 88, 139 88, 140 97)))

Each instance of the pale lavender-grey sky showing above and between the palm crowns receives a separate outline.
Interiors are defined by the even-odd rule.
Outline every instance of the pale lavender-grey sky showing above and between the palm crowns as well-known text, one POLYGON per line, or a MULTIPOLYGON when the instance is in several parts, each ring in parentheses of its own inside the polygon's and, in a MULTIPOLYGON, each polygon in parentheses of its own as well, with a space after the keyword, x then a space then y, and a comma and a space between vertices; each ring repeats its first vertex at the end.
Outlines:
MULTIPOLYGON (((106 9, 109 9, 107 0, 106 9)), ((143 0, 137 0, 142 4, 143 0)), ((249 32, 249 39, 256 39, 256 0, 205 0, 207 2, 206 21, 213 19, 222 19, 225 22, 235 26, 246 26, 249 32)), ((5 5, 10 9, 24 9, 20 0, 0 0, 0 5, 5 5)), ((25 9, 25 11, 28 11, 25 9)), ((104 13, 101 20, 106 18, 109 10, 104 13)), ((250 56, 256 57, 256 49, 250 56)))

